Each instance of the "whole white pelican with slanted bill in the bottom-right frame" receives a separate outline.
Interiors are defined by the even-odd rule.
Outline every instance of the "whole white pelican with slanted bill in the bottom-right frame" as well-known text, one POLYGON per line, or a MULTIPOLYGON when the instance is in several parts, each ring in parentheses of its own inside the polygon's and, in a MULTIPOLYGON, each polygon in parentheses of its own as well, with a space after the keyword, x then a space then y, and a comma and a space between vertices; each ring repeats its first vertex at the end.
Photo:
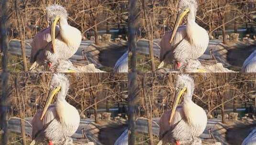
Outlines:
POLYGON ((189 75, 178 75, 176 95, 172 109, 165 112, 159 121, 160 142, 157 145, 176 143, 198 143, 207 124, 207 116, 203 108, 192 101, 194 80, 189 75), (181 95, 184 94, 182 104, 178 105, 181 95))

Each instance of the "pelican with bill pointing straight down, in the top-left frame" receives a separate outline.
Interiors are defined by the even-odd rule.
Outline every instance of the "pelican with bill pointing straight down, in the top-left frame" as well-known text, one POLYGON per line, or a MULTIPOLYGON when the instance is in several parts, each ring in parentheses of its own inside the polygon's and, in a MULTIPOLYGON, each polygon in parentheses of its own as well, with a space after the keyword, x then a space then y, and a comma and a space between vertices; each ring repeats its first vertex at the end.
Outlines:
POLYGON ((37 33, 31 43, 30 70, 45 63, 51 66, 58 59, 67 60, 77 52, 82 40, 81 32, 68 25, 64 7, 56 4, 47 7, 46 18, 50 26, 37 33))

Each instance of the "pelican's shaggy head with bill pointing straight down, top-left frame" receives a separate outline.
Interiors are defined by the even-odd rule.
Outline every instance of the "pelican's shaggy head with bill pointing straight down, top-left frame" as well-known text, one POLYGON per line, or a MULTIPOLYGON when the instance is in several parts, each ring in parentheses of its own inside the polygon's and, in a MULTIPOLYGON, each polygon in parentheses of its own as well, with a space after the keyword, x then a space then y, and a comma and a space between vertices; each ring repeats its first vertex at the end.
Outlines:
POLYGON ((55 53, 55 29, 56 24, 59 21, 67 21, 67 10, 60 5, 51 5, 46 8, 46 18, 50 25, 51 38, 52 38, 52 48, 55 53))

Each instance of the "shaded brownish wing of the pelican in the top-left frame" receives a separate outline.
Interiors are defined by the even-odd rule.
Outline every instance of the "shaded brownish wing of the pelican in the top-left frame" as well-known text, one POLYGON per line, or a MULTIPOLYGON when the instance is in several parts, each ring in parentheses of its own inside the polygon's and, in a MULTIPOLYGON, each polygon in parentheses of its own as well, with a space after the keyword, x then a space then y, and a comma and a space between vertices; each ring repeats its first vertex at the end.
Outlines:
MULTIPOLYGON (((59 27, 56 26, 56 36, 59 34, 59 27)), ((30 54, 30 62, 33 63, 36 61, 36 57, 38 55, 38 53, 41 50, 46 49, 46 46, 48 44, 51 44, 51 32, 50 32, 50 28, 46 28, 40 32, 38 32, 35 37, 33 38, 33 41, 31 42, 31 54, 30 54)))

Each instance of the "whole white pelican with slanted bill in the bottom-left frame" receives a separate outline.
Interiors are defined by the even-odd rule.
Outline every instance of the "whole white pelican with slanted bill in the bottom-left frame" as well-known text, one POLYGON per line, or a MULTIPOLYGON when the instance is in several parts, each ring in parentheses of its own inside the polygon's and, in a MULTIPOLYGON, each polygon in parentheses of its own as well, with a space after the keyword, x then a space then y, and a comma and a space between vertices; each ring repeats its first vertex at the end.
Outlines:
POLYGON ((65 100, 68 86, 64 74, 53 75, 44 109, 32 120, 33 144, 46 141, 48 145, 72 145, 71 135, 77 131, 80 117, 78 110, 65 100), (50 105, 55 94, 56 102, 50 105))

